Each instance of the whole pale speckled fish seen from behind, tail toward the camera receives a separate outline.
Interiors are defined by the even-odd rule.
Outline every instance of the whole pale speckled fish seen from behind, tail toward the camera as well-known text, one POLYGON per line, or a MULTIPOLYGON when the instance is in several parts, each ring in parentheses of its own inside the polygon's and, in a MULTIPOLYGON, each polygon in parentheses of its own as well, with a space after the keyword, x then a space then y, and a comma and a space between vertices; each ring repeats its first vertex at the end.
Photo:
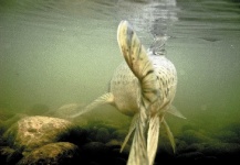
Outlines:
MULTIPOLYGON (((92 109, 109 103, 133 117, 128 134, 134 134, 127 165, 153 165, 158 146, 159 128, 166 129, 175 152, 174 135, 165 121, 166 112, 185 117, 171 105, 177 88, 177 72, 174 64, 165 57, 163 47, 145 50, 134 29, 127 21, 122 21, 117 29, 117 42, 125 58, 115 70, 109 91, 98 97, 71 118, 76 118, 92 109)), ((163 41, 155 41, 155 44, 163 41)))

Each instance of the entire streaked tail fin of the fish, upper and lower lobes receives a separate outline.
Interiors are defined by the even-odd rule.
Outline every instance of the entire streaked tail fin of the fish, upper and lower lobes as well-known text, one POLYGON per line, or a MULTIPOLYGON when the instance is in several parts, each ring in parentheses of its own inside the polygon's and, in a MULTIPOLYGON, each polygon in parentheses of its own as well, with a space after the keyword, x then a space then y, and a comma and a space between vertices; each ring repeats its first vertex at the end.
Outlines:
POLYGON ((142 89, 140 94, 137 94, 139 95, 139 117, 136 121, 136 130, 127 164, 148 165, 147 120, 153 107, 156 106, 154 109, 157 109, 156 101, 160 95, 158 91, 159 84, 145 47, 127 21, 122 21, 118 25, 117 42, 128 67, 138 78, 142 89))

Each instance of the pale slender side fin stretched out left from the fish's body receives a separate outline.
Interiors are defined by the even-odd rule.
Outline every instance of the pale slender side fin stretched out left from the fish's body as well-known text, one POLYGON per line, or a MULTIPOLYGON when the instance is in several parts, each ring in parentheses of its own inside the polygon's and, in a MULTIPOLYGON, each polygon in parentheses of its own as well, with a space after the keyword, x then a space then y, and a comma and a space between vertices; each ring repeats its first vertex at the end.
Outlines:
POLYGON ((94 100, 92 103, 86 106, 84 109, 79 110, 77 113, 70 116, 70 118, 76 118, 83 113, 86 113, 91 111, 92 109, 105 105, 105 103, 114 103, 114 96, 112 92, 107 92, 98 97, 96 100, 94 100))

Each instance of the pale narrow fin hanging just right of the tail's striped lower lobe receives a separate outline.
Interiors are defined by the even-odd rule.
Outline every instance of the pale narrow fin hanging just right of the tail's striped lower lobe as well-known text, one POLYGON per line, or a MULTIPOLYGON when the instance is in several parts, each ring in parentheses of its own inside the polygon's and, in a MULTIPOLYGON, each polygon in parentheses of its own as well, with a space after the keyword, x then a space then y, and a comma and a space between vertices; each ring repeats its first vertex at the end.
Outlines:
POLYGON ((149 165, 154 164, 154 160, 157 152, 158 146, 158 135, 160 128, 160 119, 159 116, 155 114, 149 119, 149 128, 147 133, 147 155, 149 160, 149 165))

